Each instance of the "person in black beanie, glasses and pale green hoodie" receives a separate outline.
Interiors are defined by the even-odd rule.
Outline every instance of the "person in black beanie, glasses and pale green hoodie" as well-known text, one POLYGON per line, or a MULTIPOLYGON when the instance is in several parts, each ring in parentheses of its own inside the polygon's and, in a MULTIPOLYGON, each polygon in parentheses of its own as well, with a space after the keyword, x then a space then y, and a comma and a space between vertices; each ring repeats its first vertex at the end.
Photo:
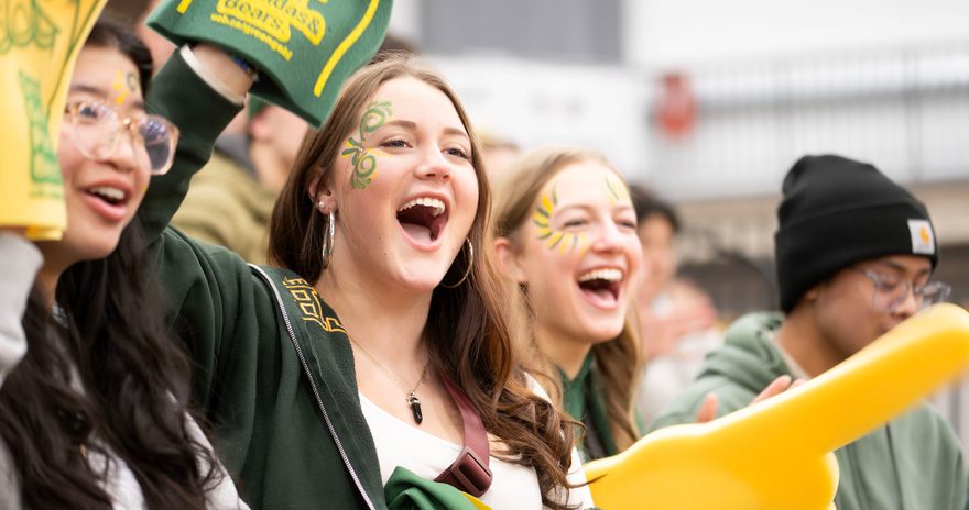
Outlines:
MULTIPOLYGON (((650 430, 692 423, 711 392, 722 415, 749 404, 779 376, 818 376, 948 297, 949 287, 932 279, 938 245, 928 211, 874 166, 805 156, 782 191, 774 240, 781 312, 734 322, 723 346, 650 430)), ((967 508, 958 439, 927 404, 835 455, 839 510, 967 508)))

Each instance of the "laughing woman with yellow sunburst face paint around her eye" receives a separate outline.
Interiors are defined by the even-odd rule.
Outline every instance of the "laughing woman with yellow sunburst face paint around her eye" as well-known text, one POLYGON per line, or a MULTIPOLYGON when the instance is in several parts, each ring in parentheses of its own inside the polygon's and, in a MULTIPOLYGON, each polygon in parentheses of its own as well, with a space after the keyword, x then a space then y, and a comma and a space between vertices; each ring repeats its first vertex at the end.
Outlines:
POLYGON ((585 425, 585 459, 617 454, 640 435, 629 311, 642 248, 627 185, 581 147, 531 152, 503 185, 494 246, 523 290, 533 347, 559 375, 549 389, 585 425))

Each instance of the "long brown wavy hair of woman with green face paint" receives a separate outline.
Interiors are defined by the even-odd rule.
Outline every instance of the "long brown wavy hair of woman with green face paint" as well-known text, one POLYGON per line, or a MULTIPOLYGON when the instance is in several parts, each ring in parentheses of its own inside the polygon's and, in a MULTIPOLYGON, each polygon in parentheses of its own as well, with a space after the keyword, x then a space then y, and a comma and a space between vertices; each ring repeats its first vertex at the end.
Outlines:
MULTIPOLYGON (((535 468, 543 502, 565 508, 552 497, 553 490, 568 487, 566 475, 574 443, 571 434, 566 433, 568 419, 529 388, 525 370, 518 363, 513 339, 521 328, 504 310, 501 273, 489 250, 491 192, 480 146, 457 95, 436 71, 413 56, 390 54, 347 80, 326 123, 304 140, 276 201, 270 222, 270 260, 307 281, 319 279, 327 217, 307 195, 311 181, 316 177, 320 182, 328 181, 366 104, 382 84, 400 77, 420 79, 450 99, 471 138, 471 164, 479 182, 478 210, 468 234, 476 247, 468 280, 455 289, 438 286, 432 295, 428 317, 433 320, 426 325, 432 364, 465 389, 488 432, 503 441, 504 459, 535 468)), ((468 251, 462 250, 444 281, 460 280, 469 262, 468 251)))

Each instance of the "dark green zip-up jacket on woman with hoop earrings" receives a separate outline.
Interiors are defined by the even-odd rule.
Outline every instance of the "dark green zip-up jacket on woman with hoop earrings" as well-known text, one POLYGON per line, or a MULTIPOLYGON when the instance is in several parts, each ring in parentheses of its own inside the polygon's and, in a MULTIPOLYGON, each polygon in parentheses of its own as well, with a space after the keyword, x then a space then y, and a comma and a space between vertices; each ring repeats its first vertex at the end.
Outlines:
MULTIPOLYGON (((352 351, 334 311, 293 273, 250 267, 167 226, 239 107, 176 53, 154 79, 148 108, 182 136, 172 170, 152 179, 139 219, 196 365, 195 403, 242 498, 265 509, 386 509, 352 351)), ((402 476, 388 486, 394 501, 409 501, 392 508, 470 506, 444 484, 416 487, 402 476), (415 490, 425 496, 415 498, 415 490)))

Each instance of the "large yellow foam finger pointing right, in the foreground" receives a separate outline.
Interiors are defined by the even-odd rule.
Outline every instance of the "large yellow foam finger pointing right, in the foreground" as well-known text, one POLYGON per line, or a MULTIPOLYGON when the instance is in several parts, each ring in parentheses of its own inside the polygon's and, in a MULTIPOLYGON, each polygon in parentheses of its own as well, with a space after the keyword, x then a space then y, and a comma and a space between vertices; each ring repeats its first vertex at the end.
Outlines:
POLYGON ((646 435, 586 465, 603 510, 825 510, 835 450, 871 432, 969 364, 969 312, 936 304, 777 397, 705 424, 646 435))

